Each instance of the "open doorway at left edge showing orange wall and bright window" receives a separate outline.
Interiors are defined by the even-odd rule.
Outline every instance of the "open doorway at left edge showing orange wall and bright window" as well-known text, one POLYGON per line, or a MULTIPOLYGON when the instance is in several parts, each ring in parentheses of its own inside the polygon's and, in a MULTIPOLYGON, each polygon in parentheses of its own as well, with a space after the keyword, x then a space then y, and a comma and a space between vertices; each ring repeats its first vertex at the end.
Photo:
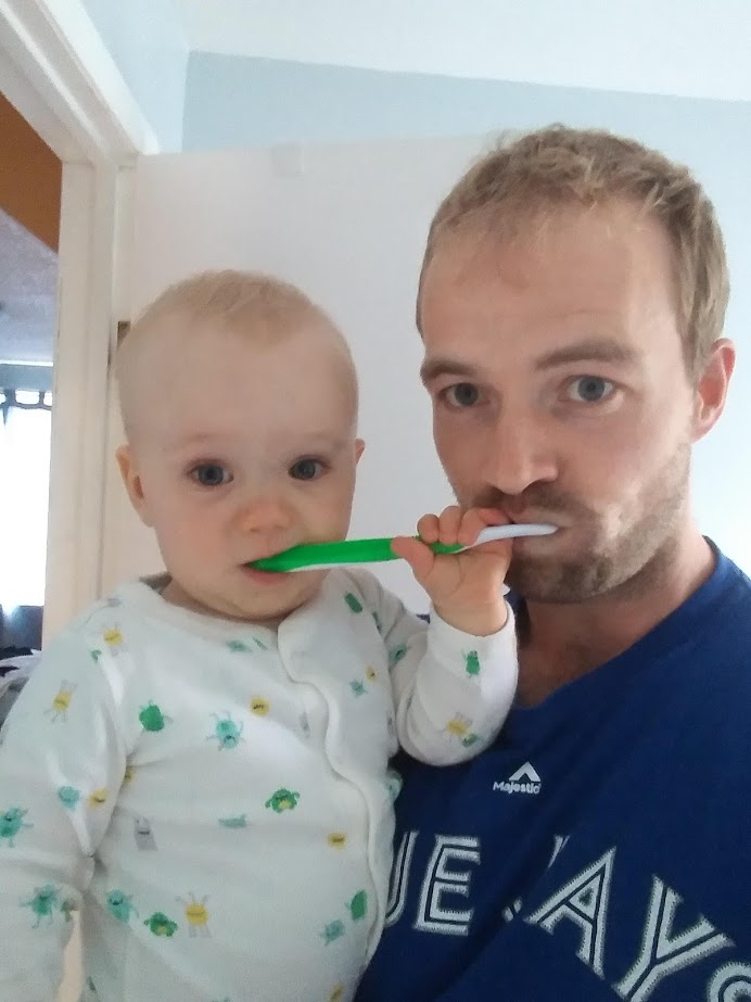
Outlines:
POLYGON ((0 94, 0 661, 41 647, 62 167, 0 94))

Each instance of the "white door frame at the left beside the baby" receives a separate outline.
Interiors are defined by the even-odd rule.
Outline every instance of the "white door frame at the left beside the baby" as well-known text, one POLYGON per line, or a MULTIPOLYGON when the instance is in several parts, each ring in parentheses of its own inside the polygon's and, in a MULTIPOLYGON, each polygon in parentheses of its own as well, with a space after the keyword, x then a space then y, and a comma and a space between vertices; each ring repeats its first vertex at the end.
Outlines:
POLYGON ((158 143, 78 0, 0 0, 0 92, 63 162, 47 637, 100 596, 117 266, 158 143))

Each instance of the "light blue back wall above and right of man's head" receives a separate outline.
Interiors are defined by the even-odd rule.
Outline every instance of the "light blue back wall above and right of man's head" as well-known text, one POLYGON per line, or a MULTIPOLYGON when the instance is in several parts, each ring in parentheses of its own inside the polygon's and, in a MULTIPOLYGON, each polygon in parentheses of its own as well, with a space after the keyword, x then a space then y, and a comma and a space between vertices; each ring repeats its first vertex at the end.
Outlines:
POLYGON ((717 207, 733 280, 726 332, 739 363, 725 416, 698 447, 695 496, 700 523, 712 524, 720 545, 751 571, 751 103, 193 53, 183 149, 456 136, 550 122, 606 127, 657 147, 689 164, 717 207))

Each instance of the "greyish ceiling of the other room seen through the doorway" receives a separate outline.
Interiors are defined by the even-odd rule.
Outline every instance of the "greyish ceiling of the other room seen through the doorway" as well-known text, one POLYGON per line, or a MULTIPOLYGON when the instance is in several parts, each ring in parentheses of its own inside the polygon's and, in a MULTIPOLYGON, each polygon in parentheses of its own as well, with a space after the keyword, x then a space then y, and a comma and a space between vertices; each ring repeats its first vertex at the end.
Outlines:
POLYGON ((49 363, 58 255, 0 210, 0 363, 49 363))

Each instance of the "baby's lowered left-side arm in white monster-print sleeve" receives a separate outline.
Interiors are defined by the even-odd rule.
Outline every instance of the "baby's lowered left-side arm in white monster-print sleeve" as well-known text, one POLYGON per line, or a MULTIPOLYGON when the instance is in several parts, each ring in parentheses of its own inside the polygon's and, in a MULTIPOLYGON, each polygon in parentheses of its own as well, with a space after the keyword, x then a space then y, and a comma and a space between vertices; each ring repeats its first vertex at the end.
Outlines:
POLYGON ((125 772, 112 690, 73 633, 46 650, 0 745, 0 999, 52 1002, 71 912, 125 772))

